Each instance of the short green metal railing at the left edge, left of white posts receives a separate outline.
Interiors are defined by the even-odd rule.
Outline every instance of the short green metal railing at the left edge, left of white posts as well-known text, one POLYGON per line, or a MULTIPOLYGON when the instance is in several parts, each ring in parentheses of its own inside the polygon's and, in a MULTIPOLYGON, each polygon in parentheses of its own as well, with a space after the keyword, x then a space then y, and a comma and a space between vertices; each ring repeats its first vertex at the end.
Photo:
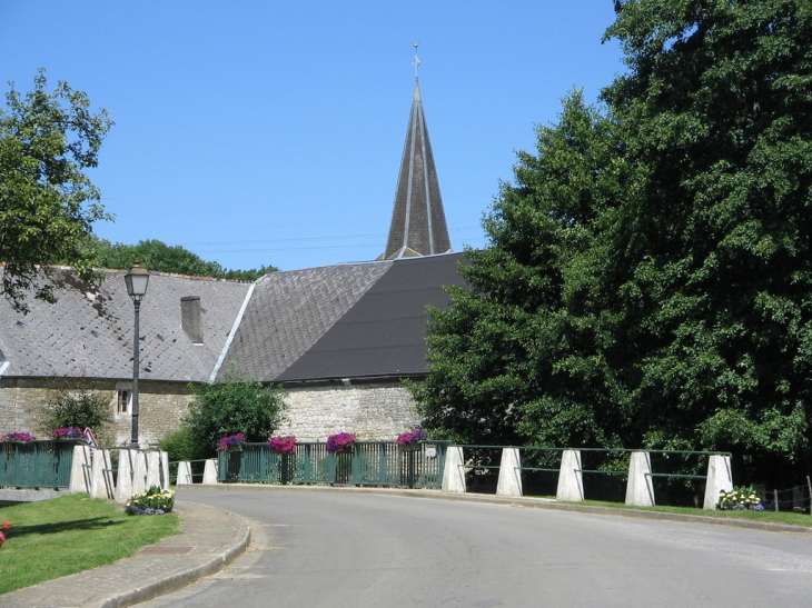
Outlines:
POLYGON ((67 488, 77 441, 3 441, 0 487, 67 488))

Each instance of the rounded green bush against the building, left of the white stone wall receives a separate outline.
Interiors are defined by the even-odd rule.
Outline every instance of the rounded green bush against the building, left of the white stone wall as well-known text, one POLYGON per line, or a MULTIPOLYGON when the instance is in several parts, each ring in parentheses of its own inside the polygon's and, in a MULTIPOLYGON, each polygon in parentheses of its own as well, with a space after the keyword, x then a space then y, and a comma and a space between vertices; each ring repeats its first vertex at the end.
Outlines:
POLYGON ((263 386, 229 370, 221 382, 195 389, 182 421, 189 435, 181 433, 174 440, 185 443, 186 450, 191 442, 196 458, 208 458, 216 453, 217 443, 227 435, 242 433, 246 441, 267 441, 281 422, 285 409, 281 388, 263 386))

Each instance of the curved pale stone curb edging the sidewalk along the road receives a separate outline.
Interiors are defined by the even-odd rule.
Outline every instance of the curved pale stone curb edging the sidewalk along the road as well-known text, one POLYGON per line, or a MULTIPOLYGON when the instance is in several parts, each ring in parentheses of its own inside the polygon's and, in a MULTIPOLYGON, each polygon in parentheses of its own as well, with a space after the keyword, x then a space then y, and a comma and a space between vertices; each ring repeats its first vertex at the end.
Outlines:
POLYGON ((89 608, 127 608, 129 606, 135 606, 136 604, 141 604, 159 596, 171 594, 178 589, 182 589, 204 577, 211 576, 220 571, 231 564, 248 549, 248 545, 250 545, 251 541, 251 529, 244 517, 232 511, 225 509, 221 510, 227 512, 239 525, 236 534, 236 542, 228 547, 225 551, 192 568, 171 574, 143 587, 123 591, 89 608))

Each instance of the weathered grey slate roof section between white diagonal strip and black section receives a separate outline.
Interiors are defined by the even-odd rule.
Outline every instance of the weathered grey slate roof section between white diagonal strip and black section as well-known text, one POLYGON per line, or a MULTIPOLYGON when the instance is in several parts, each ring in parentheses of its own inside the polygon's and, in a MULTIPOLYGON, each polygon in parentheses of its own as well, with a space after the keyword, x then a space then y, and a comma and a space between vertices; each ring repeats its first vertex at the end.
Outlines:
POLYGON ((244 376, 276 380, 392 268, 366 262, 266 275, 219 370, 235 363, 244 376))

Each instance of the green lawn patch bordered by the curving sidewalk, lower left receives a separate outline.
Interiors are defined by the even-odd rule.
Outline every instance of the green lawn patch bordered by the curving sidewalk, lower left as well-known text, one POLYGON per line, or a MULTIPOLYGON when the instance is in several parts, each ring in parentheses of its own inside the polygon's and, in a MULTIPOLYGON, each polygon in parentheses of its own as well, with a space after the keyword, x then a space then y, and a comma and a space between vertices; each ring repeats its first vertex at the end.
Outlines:
POLYGON ((128 516, 86 494, 3 507, 2 521, 11 529, 0 549, 0 594, 112 564, 178 526, 177 516, 128 516))

